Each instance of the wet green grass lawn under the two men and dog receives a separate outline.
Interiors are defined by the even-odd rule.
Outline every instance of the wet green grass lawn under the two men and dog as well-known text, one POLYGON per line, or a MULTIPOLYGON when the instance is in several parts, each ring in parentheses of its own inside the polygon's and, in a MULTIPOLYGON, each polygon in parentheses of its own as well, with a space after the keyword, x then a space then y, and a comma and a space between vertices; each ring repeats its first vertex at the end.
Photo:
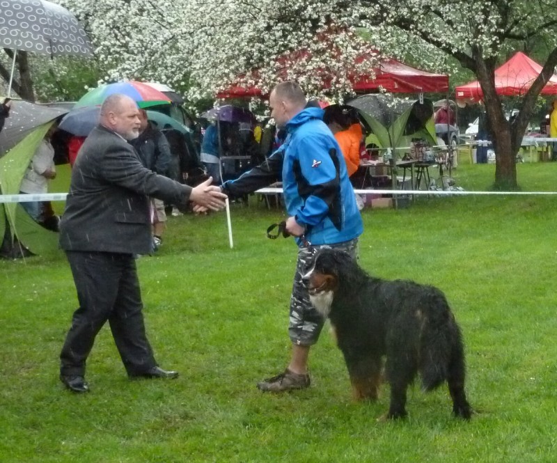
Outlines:
MULTIPOLYGON (((517 166, 524 191, 552 191, 557 163, 517 166)), ((488 187, 494 166, 461 166, 458 185, 488 187)), ((91 393, 58 381, 76 307, 62 255, 0 261, 0 462, 554 462, 557 297, 554 197, 420 198, 365 210, 361 265, 442 288, 466 344, 478 413, 450 416, 445 388, 409 391, 406 421, 350 398, 325 329, 313 385, 264 395, 285 367, 291 240, 268 240, 283 217, 252 201, 226 215, 171 217, 164 246, 138 261, 148 336, 171 382, 128 381, 105 327, 88 360, 91 393)), ((102 288, 100 288, 102 290, 102 288)))

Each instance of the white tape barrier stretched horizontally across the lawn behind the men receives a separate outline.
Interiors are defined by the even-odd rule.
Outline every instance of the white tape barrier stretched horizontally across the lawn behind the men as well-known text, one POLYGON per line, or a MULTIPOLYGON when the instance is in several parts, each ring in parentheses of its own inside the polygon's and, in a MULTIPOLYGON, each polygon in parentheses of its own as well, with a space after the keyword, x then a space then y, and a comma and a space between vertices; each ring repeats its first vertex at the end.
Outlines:
MULTIPOLYGON (((282 188, 261 188, 256 191, 260 194, 282 194, 282 188)), ((459 191, 459 190, 411 190, 411 189, 354 189, 357 194, 391 194, 407 196, 434 195, 434 196, 554 196, 557 191, 459 191)), ((45 194, 0 194, 1 203, 29 203, 33 201, 65 201, 68 193, 45 194)))

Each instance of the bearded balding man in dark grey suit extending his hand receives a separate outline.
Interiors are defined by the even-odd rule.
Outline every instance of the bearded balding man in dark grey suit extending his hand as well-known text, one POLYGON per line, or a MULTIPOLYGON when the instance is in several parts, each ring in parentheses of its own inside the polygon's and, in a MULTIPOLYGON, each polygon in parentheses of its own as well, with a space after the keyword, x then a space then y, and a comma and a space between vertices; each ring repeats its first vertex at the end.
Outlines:
POLYGON ((152 251, 148 196, 220 210, 226 195, 210 182, 191 188, 143 167, 127 141, 139 135, 137 105, 125 95, 104 101, 100 125, 82 146, 72 169, 61 219, 60 244, 70 262, 79 308, 60 355, 60 379, 71 391, 88 391, 85 363, 95 336, 109 322, 130 378, 175 378, 157 366, 143 324, 134 254, 152 251))

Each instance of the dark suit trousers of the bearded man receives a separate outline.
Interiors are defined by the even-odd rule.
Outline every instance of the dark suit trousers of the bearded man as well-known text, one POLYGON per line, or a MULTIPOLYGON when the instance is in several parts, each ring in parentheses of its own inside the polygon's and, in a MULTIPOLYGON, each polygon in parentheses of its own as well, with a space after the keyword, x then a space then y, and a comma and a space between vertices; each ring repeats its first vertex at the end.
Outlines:
POLYGON ((145 333, 143 304, 132 254, 66 251, 79 308, 60 354, 60 372, 84 376, 95 336, 109 322, 128 375, 157 365, 145 333))

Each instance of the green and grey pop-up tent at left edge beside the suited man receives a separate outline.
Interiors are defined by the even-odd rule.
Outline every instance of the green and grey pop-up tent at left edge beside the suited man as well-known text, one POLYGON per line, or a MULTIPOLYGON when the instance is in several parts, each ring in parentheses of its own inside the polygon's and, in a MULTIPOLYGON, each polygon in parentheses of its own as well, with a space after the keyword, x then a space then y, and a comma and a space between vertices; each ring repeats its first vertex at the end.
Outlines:
MULTIPOLYGON (((10 116, 0 132, 0 194, 19 194, 19 185, 40 141, 56 118, 67 109, 14 100, 10 116)), ((0 256, 23 254, 19 243, 31 253, 58 249, 58 233, 33 221, 19 203, 0 203, 0 256)))

